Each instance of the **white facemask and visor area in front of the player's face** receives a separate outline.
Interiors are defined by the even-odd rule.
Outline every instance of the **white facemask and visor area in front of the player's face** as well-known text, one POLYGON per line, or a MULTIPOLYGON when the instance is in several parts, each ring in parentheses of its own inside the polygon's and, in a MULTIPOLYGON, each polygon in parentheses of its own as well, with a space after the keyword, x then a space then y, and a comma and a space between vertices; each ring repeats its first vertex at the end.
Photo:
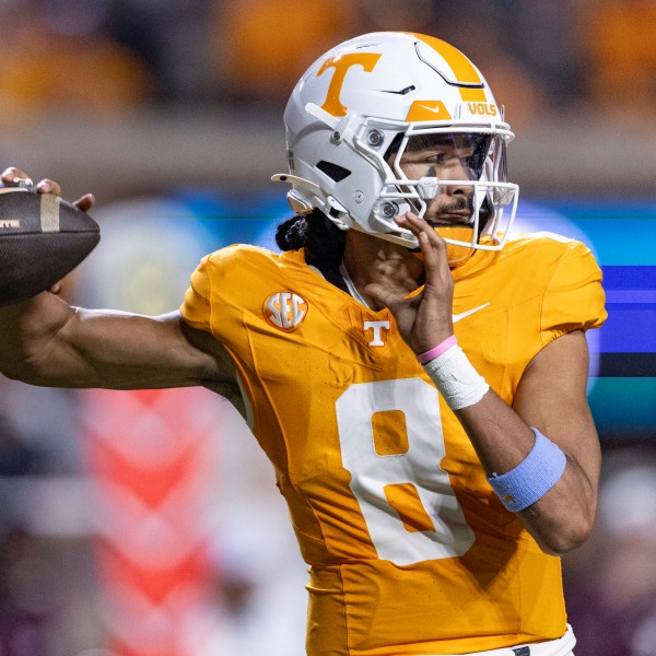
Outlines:
MULTIPOLYGON (((375 131, 376 128, 365 129, 368 134, 375 131)), ((449 249, 449 262, 468 257, 470 249, 501 249, 517 203, 517 186, 507 183, 505 144, 506 137, 497 130, 477 127, 476 131, 455 131, 453 126, 409 127, 397 136, 383 157, 377 157, 363 140, 354 140, 355 148, 368 161, 376 161, 384 176, 372 208, 372 223, 377 224, 378 236, 417 247, 414 236, 394 221, 396 214, 412 211, 426 219, 447 244, 457 247, 449 249), (423 166, 422 155, 426 155, 423 166), (445 156, 447 161, 432 165, 429 156, 445 156), (454 177, 456 171, 466 177, 454 177), (449 195, 449 188, 458 191, 449 195), (452 213, 454 216, 446 218, 452 213), (456 255, 462 249, 464 254, 456 255)))

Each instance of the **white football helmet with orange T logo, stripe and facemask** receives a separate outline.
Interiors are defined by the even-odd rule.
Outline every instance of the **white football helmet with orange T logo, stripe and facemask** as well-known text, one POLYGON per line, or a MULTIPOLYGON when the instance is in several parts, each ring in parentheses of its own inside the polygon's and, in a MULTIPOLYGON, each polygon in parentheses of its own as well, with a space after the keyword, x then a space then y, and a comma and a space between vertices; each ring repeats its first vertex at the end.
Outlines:
POLYGON ((414 248, 395 214, 423 216, 441 185, 461 184, 470 190, 469 230, 436 230, 469 254, 503 247, 518 198, 506 180, 514 134, 480 71, 447 43, 402 32, 348 40, 305 72, 284 121, 290 173, 272 179, 293 185, 294 212, 318 209, 342 230, 414 248), (433 172, 409 178, 400 160, 418 138, 475 143, 461 159, 468 179, 441 180, 433 172))

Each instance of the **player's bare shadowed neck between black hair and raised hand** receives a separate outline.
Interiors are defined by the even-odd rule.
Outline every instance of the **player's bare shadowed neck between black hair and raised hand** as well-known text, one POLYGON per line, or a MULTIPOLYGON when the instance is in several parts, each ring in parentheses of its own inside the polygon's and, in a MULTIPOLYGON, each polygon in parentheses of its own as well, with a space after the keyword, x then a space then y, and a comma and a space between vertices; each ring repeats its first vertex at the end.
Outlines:
POLYGON ((383 282, 410 293, 424 279, 423 262, 406 247, 354 230, 347 233, 343 266, 365 303, 375 309, 380 307, 365 292, 367 284, 383 282))

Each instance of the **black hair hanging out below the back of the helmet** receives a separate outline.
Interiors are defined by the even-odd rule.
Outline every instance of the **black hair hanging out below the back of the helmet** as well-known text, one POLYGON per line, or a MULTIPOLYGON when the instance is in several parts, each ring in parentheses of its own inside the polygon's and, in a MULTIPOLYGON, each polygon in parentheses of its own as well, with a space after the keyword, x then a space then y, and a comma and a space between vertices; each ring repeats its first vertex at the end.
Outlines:
POLYGON ((278 225, 276 243, 281 250, 305 248, 305 261, 316 267, 328 282, 347 291, 339 272, 345 232, 337 227, 321 211, 295 215, 278 225))

